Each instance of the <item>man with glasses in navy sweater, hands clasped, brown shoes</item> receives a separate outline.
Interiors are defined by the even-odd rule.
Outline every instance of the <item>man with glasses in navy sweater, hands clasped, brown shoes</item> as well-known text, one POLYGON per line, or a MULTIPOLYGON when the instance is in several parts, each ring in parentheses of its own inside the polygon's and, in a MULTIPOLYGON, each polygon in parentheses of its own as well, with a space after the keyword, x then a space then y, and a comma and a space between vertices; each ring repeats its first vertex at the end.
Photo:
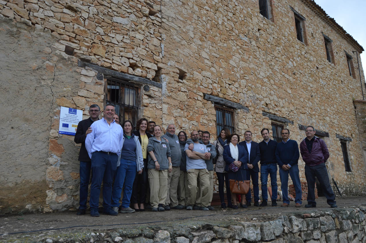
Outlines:
POLYGON ((295 207, 301 207, 301 183, 299 177, 298 160, 300 157, 298 143, 295 140, 291 140, 290 130, 287 128, 281 131, 282 141, 277 144, 276 148, 276 160, 279 164, 281 190, 283 204, 281 207, 288 207, 290 200, 288 200, 288 175, 290 174, 292 182, 295 186, 295 207))

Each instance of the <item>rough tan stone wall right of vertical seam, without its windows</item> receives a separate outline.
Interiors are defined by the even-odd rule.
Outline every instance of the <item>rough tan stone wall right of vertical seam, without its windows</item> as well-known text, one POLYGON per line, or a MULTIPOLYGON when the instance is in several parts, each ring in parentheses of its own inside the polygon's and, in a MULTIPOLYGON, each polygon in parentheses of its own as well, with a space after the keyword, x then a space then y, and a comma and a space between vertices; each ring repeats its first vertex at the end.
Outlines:
MULTIPOLYGON (((352 98, 362 99, 362 93, 359 79, 348 73, 344 53, 355 48, 302 1, 273 1, 272 10, 274 22, 259 14, 254 0, 162 1, 163 62, 176 68, 164 102, 175 106, 168 107, 163 122, 174 120, 188 131, 207 129, 215 134, 214 105, 203 99, 203 94, 211 94, 249 107, 249 113, 234 109, 235 129, 241 135, 251 130, 254 141, 262 140, 263 127, 271 128, 262 111, 293 121, 284 125, 298 143, 305 137, 298 124, 314 125, 330 134, 325 138, 330 178, 344 194, 364 194, 365 166, 352 104, 352 98), (306 18, 307 45, 296 38, 289 5, 306 18), (322 33, 333 40, 335 64, 326 59, 322 33), (336 134, 352 138, 352 172, 344 169, 336 134)), ((299 168, 305 181, 301 159, 299 168)))

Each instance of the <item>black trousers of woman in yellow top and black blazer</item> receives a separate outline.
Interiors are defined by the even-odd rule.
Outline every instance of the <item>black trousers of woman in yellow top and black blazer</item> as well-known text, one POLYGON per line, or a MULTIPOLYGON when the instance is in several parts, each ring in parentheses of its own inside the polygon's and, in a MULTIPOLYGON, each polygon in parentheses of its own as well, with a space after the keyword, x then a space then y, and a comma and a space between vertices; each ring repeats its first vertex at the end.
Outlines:
POLYGON ((147 159, 143 159, 142 173, 136 173, 135 181, 132 186, 131 203, 144 204, 146 202, 147 190, 149 190, 149 181, 147 179, 147 159))

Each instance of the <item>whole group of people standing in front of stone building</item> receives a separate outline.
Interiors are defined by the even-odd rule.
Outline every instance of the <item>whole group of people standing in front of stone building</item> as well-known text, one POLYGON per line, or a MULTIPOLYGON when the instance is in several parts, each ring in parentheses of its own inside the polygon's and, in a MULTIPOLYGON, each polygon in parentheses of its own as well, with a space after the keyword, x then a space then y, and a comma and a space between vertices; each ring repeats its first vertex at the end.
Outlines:
MULTIPOLYGON (((161 126, 146 118, 138 120, 132 131, 131 121, 119 125, 115 106, 104 107, 104 117, 99 119, 100 107, 91 105, 88 119, 79 122, 75 143, 81 143, 80 206, 78 215, 86 213, 90 173, 90 215, 99 216, 99 196, 103 195, 104 214, 133 213, 151 208, 153 212, 172 209, 214 210, 210 205, 213 197, 214 171, 219 181, 221 207, 237 209, 236 195, 230 192, 229 180, 253 183, 254 206, 267 206, 267 180, 271 178, 272 206, 277 205, 277 165, 283 192, 283 204, 288 206, 288 175, 296 190, 295 206, 301 206, 299 179, 299 149, 290 140, 290 131, 281 131, 282 142, 270 139, 269 130, 261 131, 264 140, 252 141, 252 133, 239 135, 222 129, 213 144, 208 131, 192 131, 175 134, 175 125, 169 124, 163 135, 161 126), (258 173, 261 164, 262 202, 259 205, 258 173), (228 205, 225 204, 224 185, 228 205), (131 206, 132 205, 132 208, 131 206)), ((336 207, 335 195, 329 184, 325 162, 329 157, 323 140, 317 138, 312 126, 306 128, 306 138, 300 151, 306 163, 308 204, 315 207, 315 176, 324 187, 327 202, 336 207), (311 130, 311 131, 310 131, 311 130), (309 135, 309 136, 308 136, 309 135), (304 145, 305 144, 305 145, 304 145), (326 176, 325 176, 326 175, 326 176), (321 178, 319 178, 321 177, 321 178)), ((242 195, 240 206, 251 205, 251 191, 242 195)))

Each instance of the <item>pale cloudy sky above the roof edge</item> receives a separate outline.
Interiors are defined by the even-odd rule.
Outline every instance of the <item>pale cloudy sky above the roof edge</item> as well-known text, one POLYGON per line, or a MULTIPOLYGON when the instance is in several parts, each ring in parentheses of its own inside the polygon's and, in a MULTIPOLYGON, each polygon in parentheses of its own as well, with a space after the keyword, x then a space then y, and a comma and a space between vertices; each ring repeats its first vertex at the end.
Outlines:
MULTIPOLYGON (((315 3, 347 31, 366 50, 366 0, 315 0, 315 3)), ((363 71, 366 52, 361 53, 363 71)), ((357 65, 357 61, 353 62, 357 65)))

